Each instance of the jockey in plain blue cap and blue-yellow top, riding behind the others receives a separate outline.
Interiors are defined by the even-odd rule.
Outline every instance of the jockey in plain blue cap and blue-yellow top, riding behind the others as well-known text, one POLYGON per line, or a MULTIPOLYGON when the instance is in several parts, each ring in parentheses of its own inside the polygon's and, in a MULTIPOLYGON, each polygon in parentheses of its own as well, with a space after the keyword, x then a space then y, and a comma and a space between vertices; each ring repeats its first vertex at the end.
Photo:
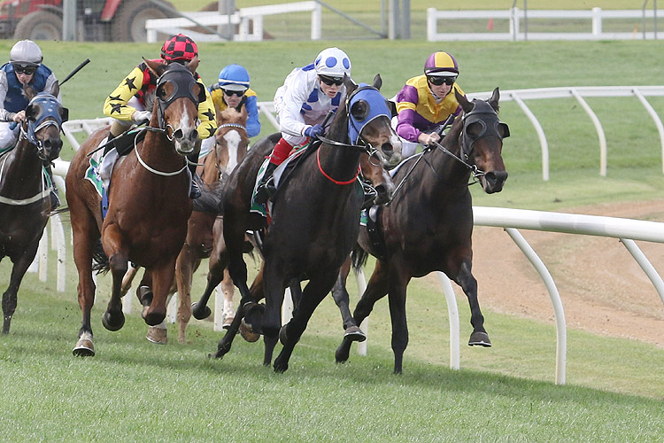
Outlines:
POLYGON ((249 73, 243 66, 228 65, 219 73, 219 82, 212 85, 212 102, 216 110, 221 112, 229 106, 247 107, 247 135, 258 136, 260 133, 258 97, 249 87, 249 73))

